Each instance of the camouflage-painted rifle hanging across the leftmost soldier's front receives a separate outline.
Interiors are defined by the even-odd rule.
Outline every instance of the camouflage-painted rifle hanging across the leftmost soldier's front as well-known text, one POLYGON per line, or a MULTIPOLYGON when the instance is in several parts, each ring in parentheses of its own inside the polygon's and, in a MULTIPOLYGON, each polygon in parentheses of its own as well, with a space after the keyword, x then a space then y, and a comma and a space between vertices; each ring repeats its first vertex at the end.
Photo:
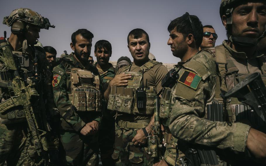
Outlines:
MULTIPOLYGON (((7 88, 10 98, 0 103, 0 113, 2 115, 8 114, 9 109, 13 107, 22 107, 23 111, 19 112, 19 116, 25 116, 27 119, 30 133, 33 137, 33 144, 38 155, 42 155, 43 151, 48 151, 48 144, 45 138, 46 132, 39 129, 39 125, 34 115, 32 102, 38 98, 38 93, 34 88, 34 83, 27 78, 27 84, 24 79, 20 77, 19 70, 13 58, 13 54, 9 45, 5 42, 0 46, 1 56, 0 60, 5 64, 5 67, 13 71, 14 78, 12 83, 0 82, 1 88, 7 88), (4 48, 4 49, 1 49, 4 48), (24 114, 24 115, 23 115, 24 114)), ((15 115, 16 117, 17 115, 15 115)))

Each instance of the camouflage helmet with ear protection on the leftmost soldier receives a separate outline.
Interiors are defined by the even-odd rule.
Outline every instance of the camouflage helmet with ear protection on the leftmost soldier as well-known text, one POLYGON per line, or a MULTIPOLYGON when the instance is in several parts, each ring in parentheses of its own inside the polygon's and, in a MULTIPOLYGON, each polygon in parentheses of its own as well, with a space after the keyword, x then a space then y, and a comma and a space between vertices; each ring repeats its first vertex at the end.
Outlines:
POLYGON ((54 28, 48 18, 42 17, 39 13, 27 8, 15 9, 9 16, 4 17, 3 24, 11 26, 11 32, 21 33, 28 29, 29 25, 35 25, 41 29, 54 28))

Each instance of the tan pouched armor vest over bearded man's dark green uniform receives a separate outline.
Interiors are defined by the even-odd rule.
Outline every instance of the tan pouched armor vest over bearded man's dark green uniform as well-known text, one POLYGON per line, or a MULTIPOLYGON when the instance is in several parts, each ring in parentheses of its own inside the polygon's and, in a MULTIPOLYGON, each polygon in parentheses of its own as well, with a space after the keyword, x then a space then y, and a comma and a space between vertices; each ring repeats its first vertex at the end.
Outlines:
POLYGON ((89 70, 72 68, 70 77, 71 94, 68 97, 77 111, 101 111, 99 75, 94 75, 89 70))

